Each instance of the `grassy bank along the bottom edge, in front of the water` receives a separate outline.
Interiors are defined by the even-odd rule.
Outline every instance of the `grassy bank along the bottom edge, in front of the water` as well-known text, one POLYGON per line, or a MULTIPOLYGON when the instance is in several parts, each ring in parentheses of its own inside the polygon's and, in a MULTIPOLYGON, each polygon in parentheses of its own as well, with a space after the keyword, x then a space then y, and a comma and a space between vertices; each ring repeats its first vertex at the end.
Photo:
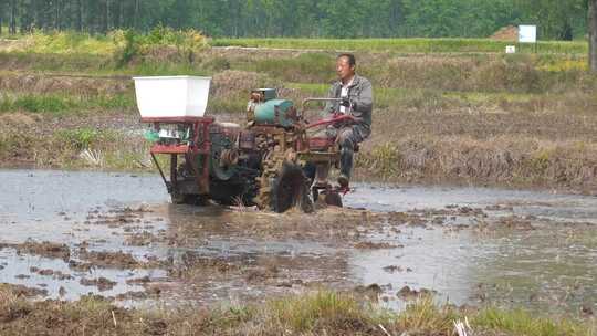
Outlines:
POLYGON ((474 335, 590 336, 595 325, 541 318, 496 308, 438 307, 429 298, 400 314, 381 311, 349 294, 318 292, 261 305, 220 308, 124 309, 101 297, 74 303, 36 302, 0 286, 2 335, 458 335, 467 318, 474 335))

